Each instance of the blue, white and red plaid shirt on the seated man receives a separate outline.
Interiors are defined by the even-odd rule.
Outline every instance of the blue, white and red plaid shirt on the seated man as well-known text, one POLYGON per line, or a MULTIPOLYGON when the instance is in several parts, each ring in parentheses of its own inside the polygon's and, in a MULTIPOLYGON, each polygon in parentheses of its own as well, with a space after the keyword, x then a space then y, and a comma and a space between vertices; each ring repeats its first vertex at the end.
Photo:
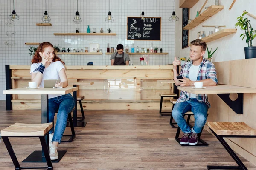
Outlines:
MULTIPOLYGON (((191 67, 191 65, 192 65, 192 61, 186 62, 185 64, 183 64, 181 66, 180 75, 189 79, 189 68, 191 67)), ((203 61, 199 66, 197 81, 204 80, 204 79, 212 79, 215 83, 218 83, 215 65, 203 57, 203 61)), ((208 101, 207 94, 198 94, 196 95, 196 99, 199 102, 205 102, 210 108, 210 103, 208 101)), ((185 102, 188 100, 189 100, 189 93, 187 93, 186 91, 181 91, 180 97, 179 99, 177 99, 177 103, 185 102)))

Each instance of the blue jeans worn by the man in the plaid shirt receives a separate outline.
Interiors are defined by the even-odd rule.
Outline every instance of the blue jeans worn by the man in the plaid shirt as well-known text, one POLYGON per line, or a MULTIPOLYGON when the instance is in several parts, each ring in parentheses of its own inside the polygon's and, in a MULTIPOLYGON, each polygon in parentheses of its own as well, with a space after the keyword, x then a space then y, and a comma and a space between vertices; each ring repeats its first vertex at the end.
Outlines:
POLYGON ((207 119, 207 111, 208 106, 206 103, 201 103, 195 98, 190 98, 186 102, 176 103, 172 111, 172 116, 184 133, 190 133, 191 131, 193 133, 200 133, 207 119), (184 118, 184 114, 188 111, 192 111, 195 116, 195 126, 192 130, 184 118))

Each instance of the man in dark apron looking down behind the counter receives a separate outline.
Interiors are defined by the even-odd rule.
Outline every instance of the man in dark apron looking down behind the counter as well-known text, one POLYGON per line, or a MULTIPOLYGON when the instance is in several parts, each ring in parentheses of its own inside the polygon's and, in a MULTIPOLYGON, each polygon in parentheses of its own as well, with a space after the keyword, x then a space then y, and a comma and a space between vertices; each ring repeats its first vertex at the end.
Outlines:
POLYGON ((124 53, 124 46, 118 44, 116 49, 117 52, 110 57, 111 65, 129 65, 130 57, 128 53, 124 53))

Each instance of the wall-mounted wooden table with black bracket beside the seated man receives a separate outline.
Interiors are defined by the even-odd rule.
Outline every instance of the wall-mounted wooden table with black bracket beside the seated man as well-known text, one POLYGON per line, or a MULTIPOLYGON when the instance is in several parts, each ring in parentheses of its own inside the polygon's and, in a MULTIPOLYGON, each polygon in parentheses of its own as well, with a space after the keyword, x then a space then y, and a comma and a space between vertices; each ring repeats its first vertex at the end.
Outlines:
POLYGON ((256 93, 256 88, 247 88, 235 85, 206 86, 206 88, 195 89, 192 86, 179 86, 179 90, 193 94, 217 94, 237 114, 243 114, 244 93, 256 93), (234 100, 230 94, 238 94, 234 100))

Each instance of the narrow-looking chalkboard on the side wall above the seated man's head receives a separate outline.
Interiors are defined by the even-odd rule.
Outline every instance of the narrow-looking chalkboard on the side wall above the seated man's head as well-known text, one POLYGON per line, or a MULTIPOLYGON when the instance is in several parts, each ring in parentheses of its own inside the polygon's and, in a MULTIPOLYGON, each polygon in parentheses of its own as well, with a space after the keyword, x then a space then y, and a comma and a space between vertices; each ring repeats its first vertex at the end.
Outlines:
POLYGON ((188 24, 189 8, 182 8, 182 49, 189 46, 189 30, 183 30, 188 24))

